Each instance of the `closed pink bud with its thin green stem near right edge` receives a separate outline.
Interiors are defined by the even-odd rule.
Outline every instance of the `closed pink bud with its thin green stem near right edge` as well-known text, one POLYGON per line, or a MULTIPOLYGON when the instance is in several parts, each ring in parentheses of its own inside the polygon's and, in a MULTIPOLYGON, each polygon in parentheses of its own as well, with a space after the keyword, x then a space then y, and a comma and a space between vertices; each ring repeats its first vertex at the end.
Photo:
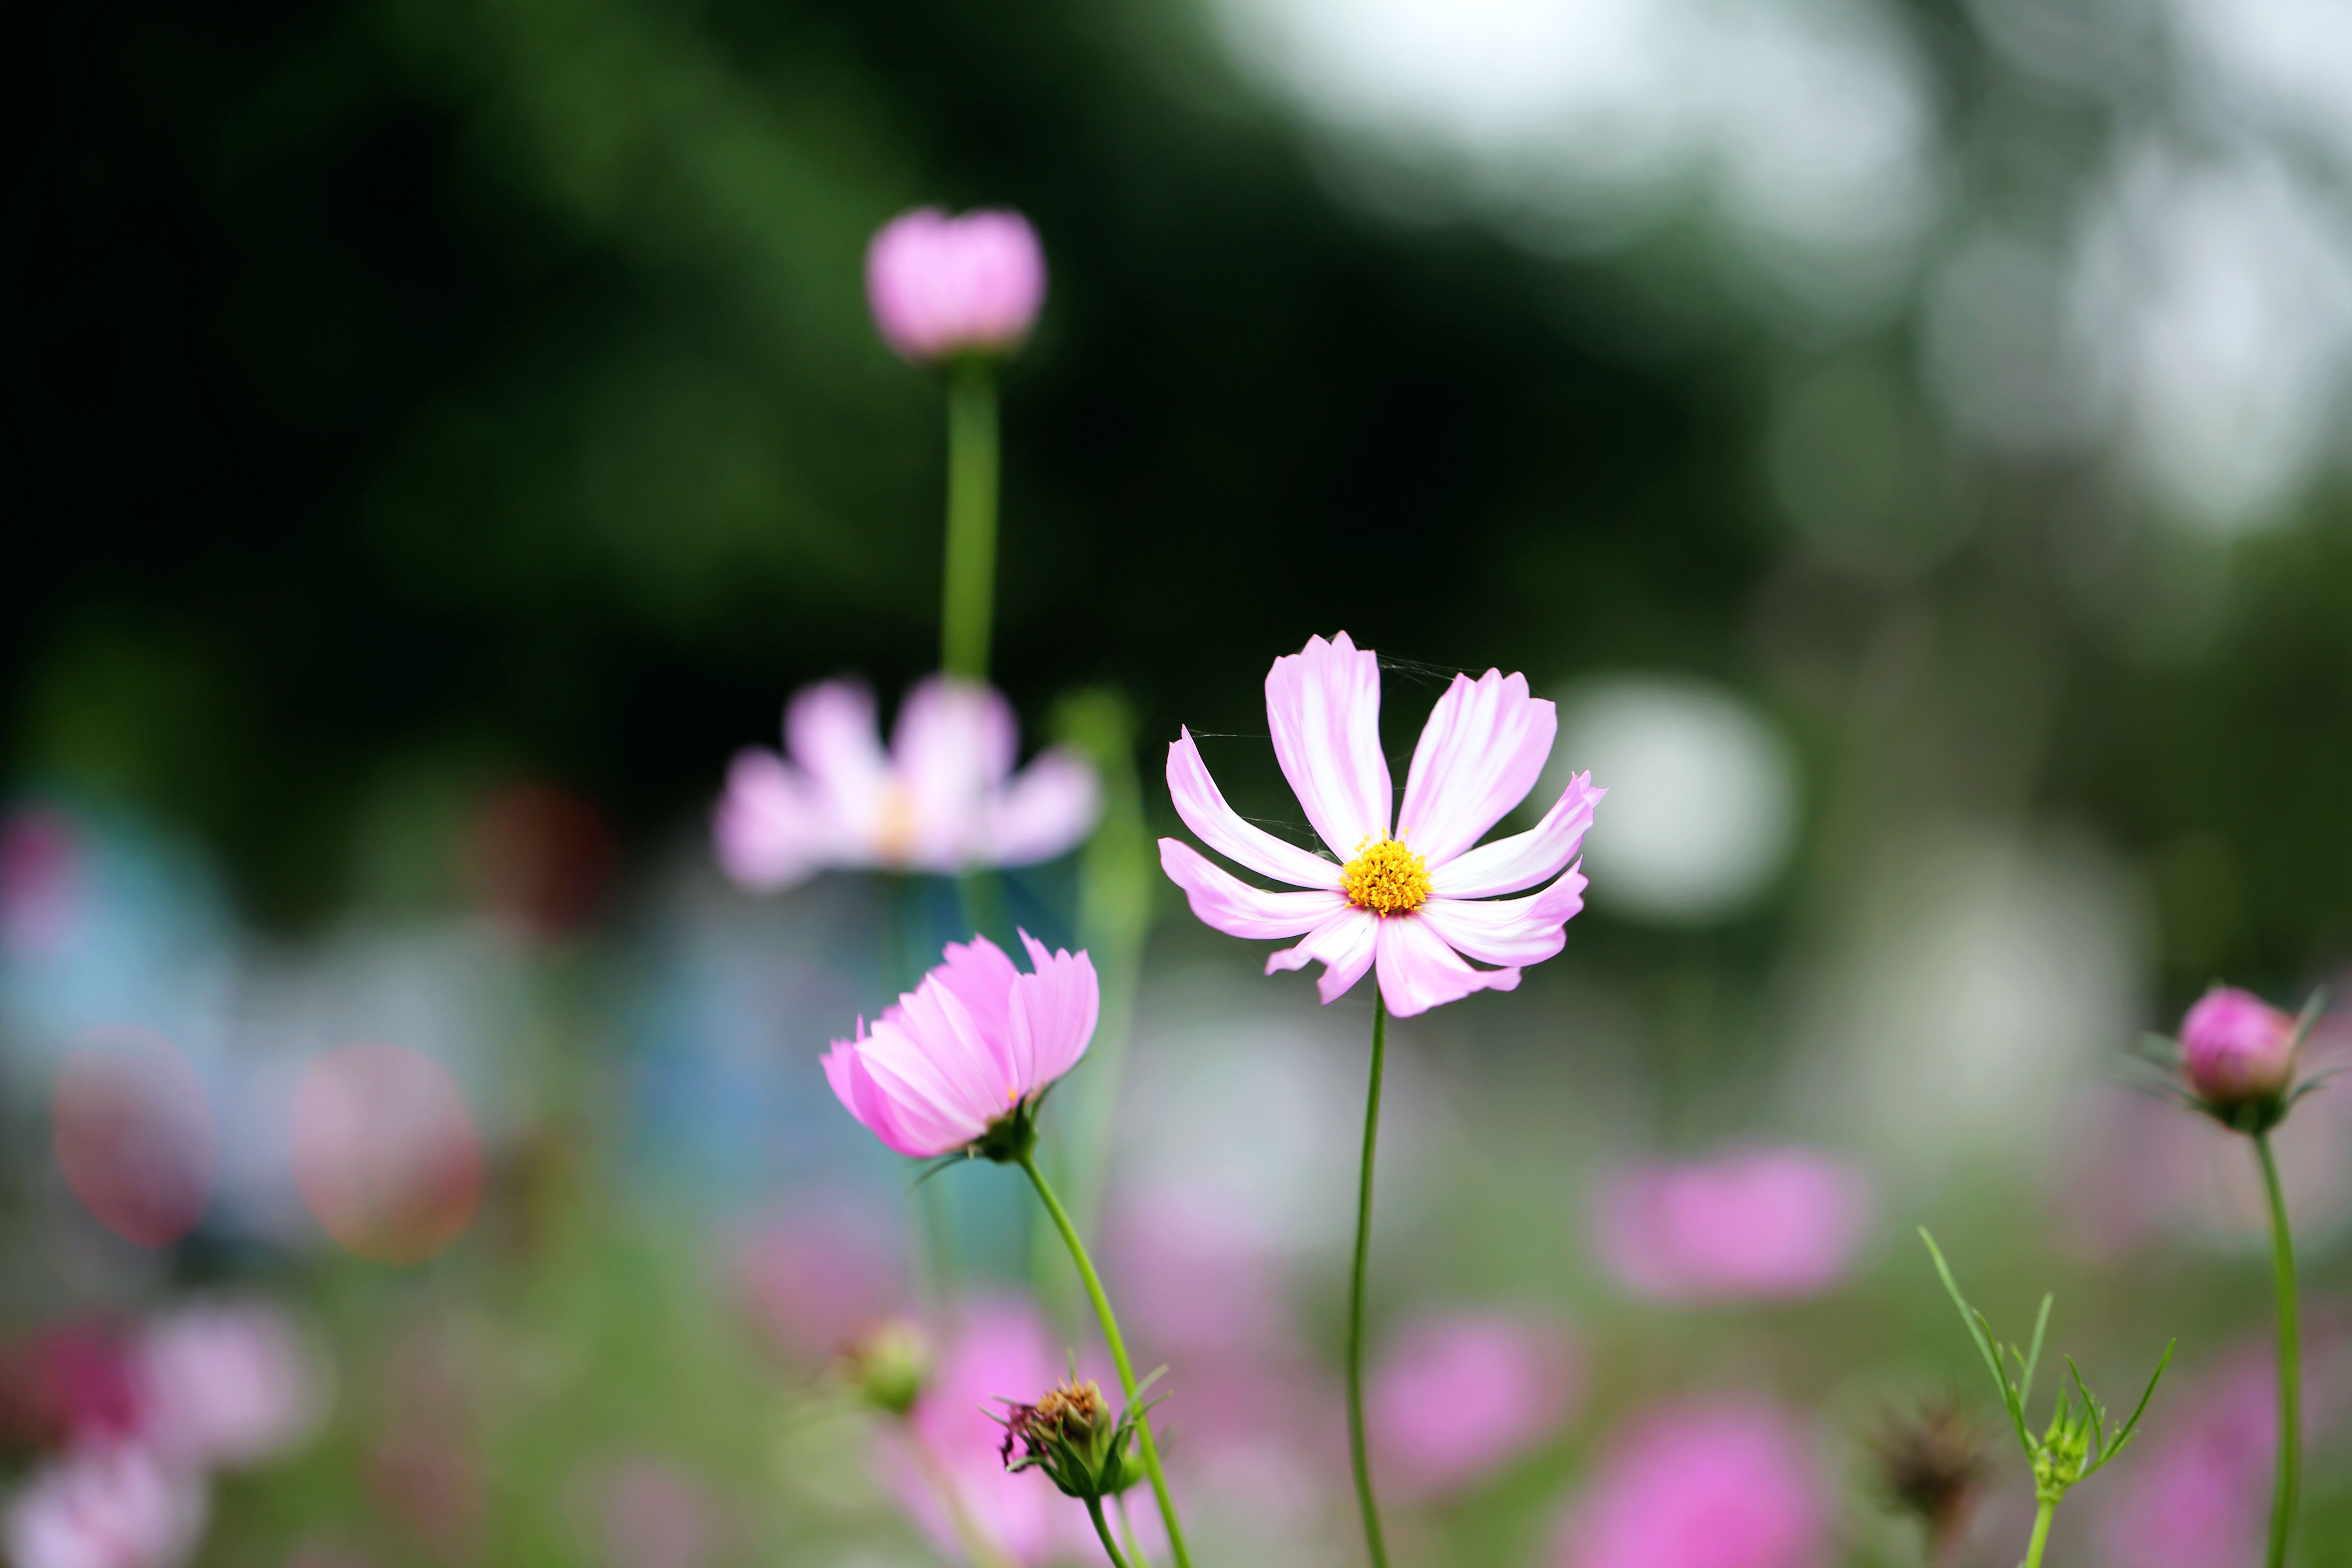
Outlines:
POLYGON ((2303 1497, 2303 1333, 2298 1324, 2296 1239, 2286 1222, 2286 1190, 2270 1133, 2328 1072, 2298 1079, 2303 1041, 2310 1039, 2326 992, 2312 992, 2300 1016, 2288 1016, 2253 992, 2216 985, 2180 1020, 2178 1039, 2147 1037, 2140 1056, 2164 1070, 2152 1084, 2187 1110, 2204 1112, 2253 1140, 2270 1199, 2270 1265, 2279 1300, 2279 1467, 2270 1502, 2267 1568, 2286 1566, 2303 1497))

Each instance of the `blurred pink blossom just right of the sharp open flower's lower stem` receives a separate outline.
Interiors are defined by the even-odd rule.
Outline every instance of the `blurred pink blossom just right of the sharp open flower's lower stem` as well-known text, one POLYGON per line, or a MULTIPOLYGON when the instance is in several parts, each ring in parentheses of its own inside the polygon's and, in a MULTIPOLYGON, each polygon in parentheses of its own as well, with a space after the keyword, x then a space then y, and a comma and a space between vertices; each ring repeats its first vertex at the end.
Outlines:
POLYGON ((1571 1394, 1552 1328, 1496 1312, 1411 1324, 1371 1382, 1381 1479, 1423 1497, 1470 1486, 1557 1432, 1571 1394))

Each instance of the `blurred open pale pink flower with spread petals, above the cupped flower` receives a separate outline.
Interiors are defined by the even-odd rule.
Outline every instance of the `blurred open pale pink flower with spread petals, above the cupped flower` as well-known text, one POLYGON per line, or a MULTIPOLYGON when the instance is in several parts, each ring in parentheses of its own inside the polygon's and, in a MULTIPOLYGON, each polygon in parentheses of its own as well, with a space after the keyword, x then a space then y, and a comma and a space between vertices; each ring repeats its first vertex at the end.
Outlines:
POLYGON ((790 757, 746 748, 727 771, 720 867, 760 891, 826 867, 953 875, 1051 860, 1094 827, 1094 766, 1056 748, 1014 773, 1018 726, 990 686, 936 675, 898 708, 887 755, 877 733, 866 686, 802 686, 790 757))

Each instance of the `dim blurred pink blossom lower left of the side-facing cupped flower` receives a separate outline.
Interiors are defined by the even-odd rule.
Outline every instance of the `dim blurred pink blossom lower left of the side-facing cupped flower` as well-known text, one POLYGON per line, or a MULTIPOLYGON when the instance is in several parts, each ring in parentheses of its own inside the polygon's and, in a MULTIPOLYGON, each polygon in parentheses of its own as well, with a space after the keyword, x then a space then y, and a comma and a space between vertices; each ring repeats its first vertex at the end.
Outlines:
POLYGON ((736 1248, 736 1288, 786 1356, 823 1361, 906 1305, 894 1241, 870 1215, 797 1204, 736 1248))

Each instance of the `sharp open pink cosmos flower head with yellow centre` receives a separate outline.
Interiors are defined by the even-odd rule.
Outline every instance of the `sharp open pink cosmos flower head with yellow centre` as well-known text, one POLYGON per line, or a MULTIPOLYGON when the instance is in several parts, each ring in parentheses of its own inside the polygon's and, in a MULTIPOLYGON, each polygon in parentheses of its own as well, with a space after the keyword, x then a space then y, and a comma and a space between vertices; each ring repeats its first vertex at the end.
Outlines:
POLYGON ((1585 877, 1569 863, 1602 797, 1592 776, 1578 773, 1536 827, 1479 844, 1536 785, 1552 752, 1552 705, 1526 693, 1524 675, 1454 677, 1414 748, 1395 832, 1371 649, 1341 632, 1277 658, 1265 677, 1265 717, 1282 776, 1334 858, 1235 813, 1190 729, 1169 748, 1169 795, 1202 844, 1308 891, 1268 893, 1190 844, 1160 839, 1160 865, 1192 914, 1225 936, 1305 938, 1265 959, 1265 973, 1315 959, 1324 966, 1317 992, 1334 1001, 1378 964, 1388 1011, 1411 1018, 1475 990, 1512 990, 1519 969, 1566 945, 1564 926, 1585 907, 1585 877), (1529 898, 1494 898, 1552 877, 1529 898), (1465 957, 1498 969, 1472 969, 1465 957))

